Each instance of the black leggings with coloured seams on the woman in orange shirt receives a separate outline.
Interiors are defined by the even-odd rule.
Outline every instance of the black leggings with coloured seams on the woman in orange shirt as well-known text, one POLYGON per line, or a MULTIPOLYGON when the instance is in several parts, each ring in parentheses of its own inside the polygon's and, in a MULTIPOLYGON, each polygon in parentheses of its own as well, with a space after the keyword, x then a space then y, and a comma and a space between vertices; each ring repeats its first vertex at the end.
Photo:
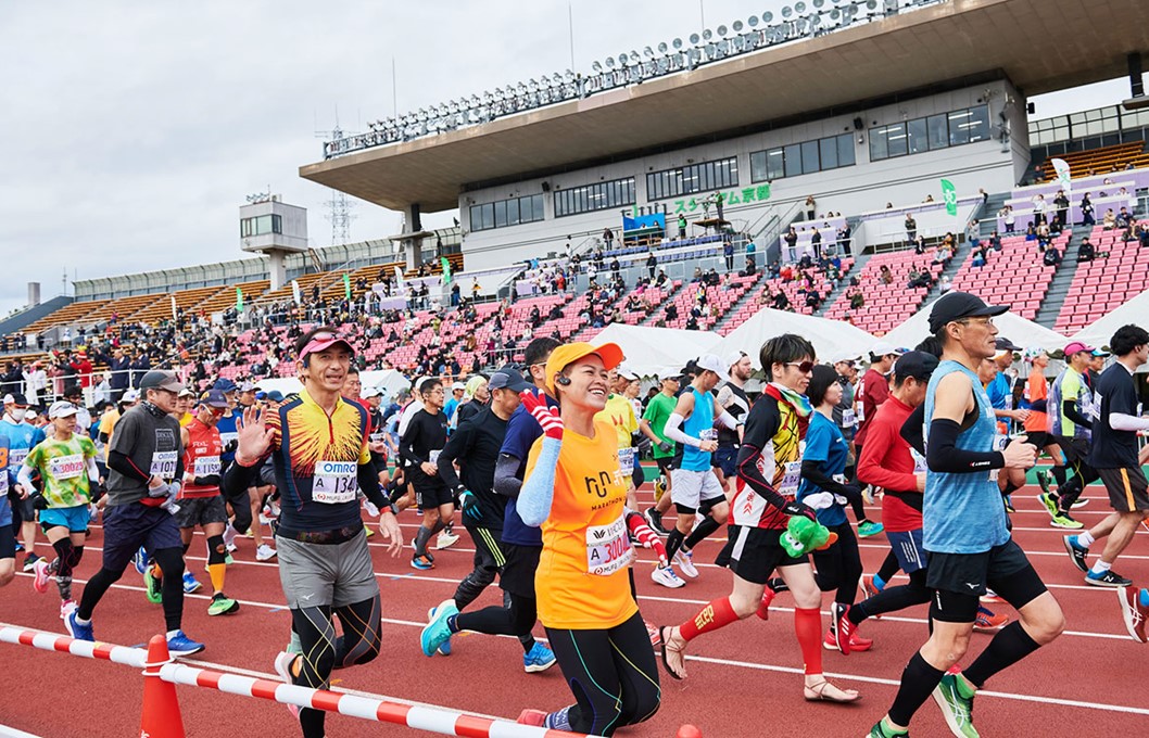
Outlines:
POLYGON ((658 712, 662 690, 642 615, 606 630, 547 628, 547 637, 574 694, 566 709, 570 730, 614 736, 658 712))

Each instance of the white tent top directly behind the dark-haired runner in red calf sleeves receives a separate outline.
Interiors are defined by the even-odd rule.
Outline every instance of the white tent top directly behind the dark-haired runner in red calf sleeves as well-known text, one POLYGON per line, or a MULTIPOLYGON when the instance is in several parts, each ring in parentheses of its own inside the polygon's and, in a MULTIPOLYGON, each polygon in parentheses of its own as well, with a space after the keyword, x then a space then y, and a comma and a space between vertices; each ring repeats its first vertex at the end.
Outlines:
POLYGON ((839 355, 861 356, 878 341, 862 328, 842 320, 763 308, 723 339, 711 354, 728 356, 734 351, 743 351, 756 365, 762 344, 784 333, 805 336, 813 343, 818 358, 827 362, 839 355))

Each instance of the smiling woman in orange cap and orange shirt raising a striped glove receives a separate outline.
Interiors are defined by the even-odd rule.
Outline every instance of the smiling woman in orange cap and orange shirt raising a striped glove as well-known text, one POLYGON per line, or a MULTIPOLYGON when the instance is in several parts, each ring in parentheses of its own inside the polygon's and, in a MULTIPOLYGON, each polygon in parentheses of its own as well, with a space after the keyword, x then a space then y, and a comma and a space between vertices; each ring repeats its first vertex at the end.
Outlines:
POLYGON ((610 421, 594 419, 607 404, 607 372, 622 359, 614 343, 561 345, 547 360, 547 388, 560 406, 522 395, 542 437, 527 458, 518 514, 542 527, 539 620, 576 704, 524 710, 520 723, 612 736, 661 702, 654 650, 626 574, 634 558, 624 507, 632 469, 618 463, 610 421))

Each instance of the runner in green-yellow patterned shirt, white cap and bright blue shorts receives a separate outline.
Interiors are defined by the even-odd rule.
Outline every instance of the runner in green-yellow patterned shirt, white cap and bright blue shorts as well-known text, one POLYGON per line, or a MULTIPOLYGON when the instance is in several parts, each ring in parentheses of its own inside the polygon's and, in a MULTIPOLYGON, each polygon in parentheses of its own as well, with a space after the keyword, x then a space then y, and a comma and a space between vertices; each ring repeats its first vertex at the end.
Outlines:
POLYGON ((95 445, 91 438, 75 433, 76 405, 53 403, 48 418, 52 435, 29 451, 18 479, 23 495, 30 497, 34 489, 32 473, 40 475, 40 496, 47 505, 40 511, 40 526, 48 543, 56 550, 56 558, 52 564, 45 559, 36 561, 32 586, 37 592, 46 592, 48 578, 55 576, 60 590, 60 617, 64 619, 76 608, 71 598, 71 575, 84 558, 92 487, 101 480, 95 468, 95 445))

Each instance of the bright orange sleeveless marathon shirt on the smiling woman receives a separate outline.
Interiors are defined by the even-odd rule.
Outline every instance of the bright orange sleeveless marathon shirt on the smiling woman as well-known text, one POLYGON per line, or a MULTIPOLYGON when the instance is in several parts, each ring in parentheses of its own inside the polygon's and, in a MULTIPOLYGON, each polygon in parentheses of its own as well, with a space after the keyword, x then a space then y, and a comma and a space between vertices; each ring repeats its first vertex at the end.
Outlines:
MULTIPOLYGON (((632 469, 619 468, 611 422, 596 420, 594 432, 587 438, 568 429, 555 468, 555 496, 542 523, 534 575, 539 620, 547 628, 614 628, 638 612, 626 573, 634 558, 624 515, 632 469)), ((534 471, 541 448, 540 437, 531 446, 524 479, 534 471)))

